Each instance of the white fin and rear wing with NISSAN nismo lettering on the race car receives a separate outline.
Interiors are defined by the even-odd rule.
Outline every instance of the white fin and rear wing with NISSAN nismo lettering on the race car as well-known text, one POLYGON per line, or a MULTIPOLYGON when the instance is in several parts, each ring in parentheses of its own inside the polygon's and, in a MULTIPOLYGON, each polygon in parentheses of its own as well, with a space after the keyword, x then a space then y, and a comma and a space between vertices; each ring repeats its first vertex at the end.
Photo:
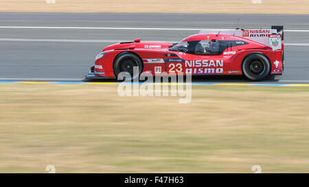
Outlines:
POLYGON ((199 34, 228 34, 247 38, 262 45, 271 47, 273 51, 282 49, 282 40, 284 40, 283 26, 272 26, 271 29, 214 29, 201 30, 199 34))

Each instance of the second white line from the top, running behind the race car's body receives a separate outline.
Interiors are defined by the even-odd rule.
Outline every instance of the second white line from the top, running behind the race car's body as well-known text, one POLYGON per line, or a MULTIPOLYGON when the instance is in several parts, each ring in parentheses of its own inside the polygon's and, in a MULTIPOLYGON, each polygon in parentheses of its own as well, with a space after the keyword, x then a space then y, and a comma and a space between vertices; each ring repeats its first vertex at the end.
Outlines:
MULTIPOLYGON (((128 42, 129 40, 71 40, 71 39, 30 39, 30 38, 0 38, 1 42, 82 42, 82 43, 116 43, 128 42)), ((165 41, 177 42, 177 41, 165 41)), ((284 43, 285 46, 309 47, 309 43, 284 43)))

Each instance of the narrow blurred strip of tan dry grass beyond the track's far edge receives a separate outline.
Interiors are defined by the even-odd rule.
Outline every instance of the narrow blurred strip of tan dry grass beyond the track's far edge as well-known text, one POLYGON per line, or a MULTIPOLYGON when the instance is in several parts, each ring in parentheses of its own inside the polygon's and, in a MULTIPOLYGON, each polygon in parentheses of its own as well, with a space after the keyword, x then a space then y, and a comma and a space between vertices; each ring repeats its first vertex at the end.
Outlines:
POLYGON ((261 4, 253 4, 253 0, 55 0, 55 4, 46 1, 52 0, 0 0, 0 12, 309 14, 308 0, 262 0, 261 4))

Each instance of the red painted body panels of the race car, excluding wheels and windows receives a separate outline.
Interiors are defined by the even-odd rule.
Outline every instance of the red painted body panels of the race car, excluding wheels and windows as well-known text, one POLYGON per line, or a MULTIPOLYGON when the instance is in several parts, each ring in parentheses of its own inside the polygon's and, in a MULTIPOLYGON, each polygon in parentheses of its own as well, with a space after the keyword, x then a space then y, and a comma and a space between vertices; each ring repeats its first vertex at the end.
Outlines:
POLYGON ((173 44, 170 42, 135 42, 118 43, 103 49, 108 51, 104 57, 95 61, 94 73, 100 77, 115 78, 113 63, 117 55, 124 52, 135 53, 141 58, 143 72, 159 75, 182 72, 192 75, 242 75, 242 61, 250 53, 262 53, 271 62, 270 75, 282 75, 283 51, 273 51, 271 47, 259 42, 227 34, 196 34, 183 39, 183 42, 196 40, 236 40, 245 45, 227 47, 219 55, 194 55, 179 51, 169 51, 173 44), (279 62, 279 63, 278 63, 279 62), (99 68, 98 68, 99 67, 99 68))

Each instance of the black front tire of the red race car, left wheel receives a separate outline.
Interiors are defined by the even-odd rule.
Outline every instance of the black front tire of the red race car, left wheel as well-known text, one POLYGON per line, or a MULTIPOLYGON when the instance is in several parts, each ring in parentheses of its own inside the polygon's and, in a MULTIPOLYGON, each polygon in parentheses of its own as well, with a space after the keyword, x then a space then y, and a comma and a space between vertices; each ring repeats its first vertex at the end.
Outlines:
POLYGON ((122 53, 115 59, 113 68, 116 77, 118 77, 121 72, 127 72, 130 73, 131 79, 137 79, 139 75, 141 75, 141 71, 143 71, 143 62, 138 55, 133 53, 122 53), (137 75, 133 75, 134 66, 138 66, 139 68, 137 75))

